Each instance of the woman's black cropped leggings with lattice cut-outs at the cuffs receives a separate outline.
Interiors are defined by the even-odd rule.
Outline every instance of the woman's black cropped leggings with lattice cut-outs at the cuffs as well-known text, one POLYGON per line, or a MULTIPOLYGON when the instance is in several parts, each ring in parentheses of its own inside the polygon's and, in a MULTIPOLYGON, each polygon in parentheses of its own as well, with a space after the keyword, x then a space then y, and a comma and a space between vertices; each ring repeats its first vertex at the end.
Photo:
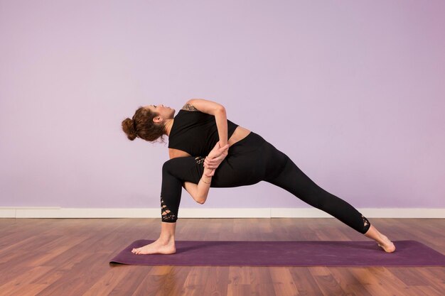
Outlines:
MULTIPOLYGON (((161 216, 163 222, 176 222, 183 182, 198 184, 205 156, 167 160, 162 167, 161 216)), ((323 190, 304 174, 284 153, 257 133, 230 146, 218 166, 210 187, 238 187, 266 181, 291 192, 299 199, 365 234, 370 222, 343 199, 323 190)))

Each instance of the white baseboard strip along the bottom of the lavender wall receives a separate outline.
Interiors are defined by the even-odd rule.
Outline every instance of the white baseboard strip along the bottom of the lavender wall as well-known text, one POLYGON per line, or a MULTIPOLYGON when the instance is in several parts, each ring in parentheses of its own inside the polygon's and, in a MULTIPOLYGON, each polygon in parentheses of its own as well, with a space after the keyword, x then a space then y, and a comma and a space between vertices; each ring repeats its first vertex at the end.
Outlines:
MULTIPOLYGON (((445 218, 445 209, 363 208, 367 218, 445 218)), ((180 208, 179 218, 333 218, 316 208, 180 208)), ((161 218, 161 209, 0 207, 0 218, 161 218)))

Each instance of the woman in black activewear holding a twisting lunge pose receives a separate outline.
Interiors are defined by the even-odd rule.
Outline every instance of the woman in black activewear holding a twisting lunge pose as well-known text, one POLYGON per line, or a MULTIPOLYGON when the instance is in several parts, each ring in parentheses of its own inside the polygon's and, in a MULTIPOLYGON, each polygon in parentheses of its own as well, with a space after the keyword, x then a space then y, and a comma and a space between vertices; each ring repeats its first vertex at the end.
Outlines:
POLYGON ((377 241, 384 251, 394 243, 343 199, 326 192, 294 162, 257 133, 227 120, 224 106, 205 99, 191 99, 176 116, 163 105, 139 107, 133 119, 122 121, 129 140, 154 142, 168 136, 170 160, 163 164, 161 186, 161 235, 135 254, 176 252, 174 235, 181 191, 184 187, 203 204, 210 187, 238 187, 266 181, 294 194, 377 241), (207 157, 205 157, 207 155, 207 157))

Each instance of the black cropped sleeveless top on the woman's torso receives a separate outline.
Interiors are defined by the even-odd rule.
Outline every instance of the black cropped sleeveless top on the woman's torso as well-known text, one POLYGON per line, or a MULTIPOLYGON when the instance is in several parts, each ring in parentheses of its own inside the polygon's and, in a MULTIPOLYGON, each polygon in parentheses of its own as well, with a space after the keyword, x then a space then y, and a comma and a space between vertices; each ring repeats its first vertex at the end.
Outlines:
MULTIPOLYGON (((237 126, 227 119, 227 140, 237 126)), ((218 141, 220 137, 215 116, 181 109, 174 117, 168 136, 168 148, 183 150, 192 156, 206 156, 218 141)))

